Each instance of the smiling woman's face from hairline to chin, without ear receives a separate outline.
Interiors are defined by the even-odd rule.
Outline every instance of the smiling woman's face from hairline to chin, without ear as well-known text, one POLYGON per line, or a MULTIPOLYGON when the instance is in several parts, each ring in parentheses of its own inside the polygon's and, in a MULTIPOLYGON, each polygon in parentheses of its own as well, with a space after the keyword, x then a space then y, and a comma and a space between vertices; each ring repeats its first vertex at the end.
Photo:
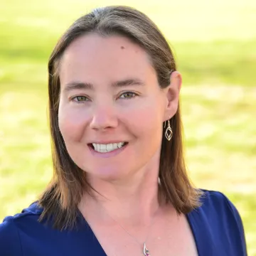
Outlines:
MULTIPOLYGON (((119 180, 158 169, 170 113, 146 52, 122 36, 82 36, 60 63, 59 127, 89 176, 119 180)), ((157 170, 158 171, 158 170, 157 170)))

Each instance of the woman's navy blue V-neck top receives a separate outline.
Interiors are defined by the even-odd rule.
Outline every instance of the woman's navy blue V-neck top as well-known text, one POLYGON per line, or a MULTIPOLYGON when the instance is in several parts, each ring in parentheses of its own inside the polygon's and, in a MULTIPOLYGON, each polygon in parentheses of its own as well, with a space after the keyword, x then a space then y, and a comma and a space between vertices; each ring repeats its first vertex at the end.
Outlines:
MULTIPOLYGON (((202 206, 186 215, 198 256, 245 256, 246 245, 238 210, 222 193, 204 191, 202 206)), ((33 203, 0 224, 1 256, 106 256, 84 218, 78 230, 59 231, 39 223, 42 209, 33 203)))

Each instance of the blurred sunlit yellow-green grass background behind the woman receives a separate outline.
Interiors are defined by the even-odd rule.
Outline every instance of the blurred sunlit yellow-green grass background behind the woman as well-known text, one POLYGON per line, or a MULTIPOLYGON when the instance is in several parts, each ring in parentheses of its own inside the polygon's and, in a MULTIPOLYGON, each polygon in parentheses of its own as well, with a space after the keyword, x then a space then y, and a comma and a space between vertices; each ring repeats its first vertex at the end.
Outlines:
POLYGON ((189 174, 240 211, 256 255, 255 0, 1 0, 0 222, 35 201, 52 176, 47 63, 60 35, 98 6, 147 14, 183 75, 181 110, 189 174))

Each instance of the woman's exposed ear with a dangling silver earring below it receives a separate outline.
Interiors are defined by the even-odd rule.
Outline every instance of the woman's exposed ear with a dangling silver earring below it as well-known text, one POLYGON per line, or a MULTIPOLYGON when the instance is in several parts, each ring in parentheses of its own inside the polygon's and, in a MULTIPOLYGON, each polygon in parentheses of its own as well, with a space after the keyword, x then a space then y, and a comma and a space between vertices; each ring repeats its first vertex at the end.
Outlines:
POLYGON ((163 122, 171 119, 178 110, 178 98, 182 83, 181 73, 178 71, 171 73, 170 81, 170 85, 164 89, 166 95, 166 109, 163 122))

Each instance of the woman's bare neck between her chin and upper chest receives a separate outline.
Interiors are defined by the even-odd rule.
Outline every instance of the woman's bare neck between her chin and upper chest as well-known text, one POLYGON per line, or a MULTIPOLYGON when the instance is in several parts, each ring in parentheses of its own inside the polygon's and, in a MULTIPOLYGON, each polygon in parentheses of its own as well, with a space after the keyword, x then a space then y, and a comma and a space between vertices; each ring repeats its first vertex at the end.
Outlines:
POLYGON ((85 218, 114 220, 127 225, 147 225, 159 209, 158 172, 146 172, 130 181, 102 181, 89 178, 95 191, 82 196, 78 206, 85 218))

